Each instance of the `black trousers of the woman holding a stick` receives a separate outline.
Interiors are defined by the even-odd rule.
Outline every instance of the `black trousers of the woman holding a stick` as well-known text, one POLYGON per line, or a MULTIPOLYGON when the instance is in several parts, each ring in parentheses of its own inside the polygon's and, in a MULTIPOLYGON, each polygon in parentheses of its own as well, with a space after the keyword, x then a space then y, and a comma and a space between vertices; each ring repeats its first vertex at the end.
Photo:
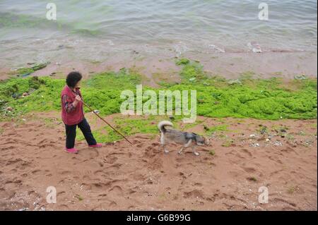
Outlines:
POLYGON ((81 123, 75 125, 66 125, 66 148, 70 149, 74 147, 75 138, 76 138, 76 127, 79 127, 82 130, 82 133, 88 142, 88 145, 96 145, 97 142, 93 137, 92 131, 90 130, 90 125, 86 121, 86 118, 81 121, 81 123))

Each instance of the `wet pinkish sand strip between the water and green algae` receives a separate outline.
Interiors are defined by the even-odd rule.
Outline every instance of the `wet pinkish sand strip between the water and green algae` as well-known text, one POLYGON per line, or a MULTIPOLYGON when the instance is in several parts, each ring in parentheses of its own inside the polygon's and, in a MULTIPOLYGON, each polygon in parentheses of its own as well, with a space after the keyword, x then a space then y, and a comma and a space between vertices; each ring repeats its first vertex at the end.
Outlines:
MULTIPOLYGON (((42 70, 35 71, 33 75, 50 75, 54 73, 57 78, 62 78, 70 71, 80 71, 84 78, 93 73, 105 71, 119 71, 121 68, 136 68, 145 75, 150 84, 158 78, 177 80, 179 67, 175 65, 177 59, 192 59, 199 61, 205 71, 212 75, 218 75, 227 79, 237 79, 240 74, 254 73, 255 78, 283 78, 293 79, 295 75, 306 75, 309 78, 317 78, 317 51, 298 52, 262 52, 262 53, 220 53, 220 54, 182 54, 179 58, 174 56, 147 56, 132 52, 131 54, 118 54, 106 57, 100 61, 94 60, 70 60, 59 58, 50 61, 50 64, 42 70)), ((42 60, 42 62, 45 62, 42 60)), ((37 61, 25 61, 20 66, 28 67, 28 63, 37 61)), ((2 63, 4 64, 4 63, 2 63)), ((14 68, 14 67, 13 67, 14 68)), ((0 69, 0 80, 10 77, 13 68, 3 66, 0 69)))

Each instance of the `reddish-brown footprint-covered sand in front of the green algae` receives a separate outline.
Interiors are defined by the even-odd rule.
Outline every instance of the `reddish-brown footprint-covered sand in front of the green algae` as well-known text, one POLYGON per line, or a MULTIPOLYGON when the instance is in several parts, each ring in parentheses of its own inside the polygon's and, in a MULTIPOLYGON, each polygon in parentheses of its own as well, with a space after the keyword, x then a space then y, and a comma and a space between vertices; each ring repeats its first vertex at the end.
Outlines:
MULTIPOLYGON (((93 114, 86 118, 93 130, 100 126, 93 114)), ((58 113, 2 122, 0 209, 317 210, 317 120, 201 119, 230 126, 198 147, 199 157, 179 155, 173 144, 164 154, 159 136, 145 134, 129 137, 134 146, 121 140, 92 150, 76 142, 79 153, 66 154, 58 113), (278 134, 278 127, 288 131, 278 134), (46 201, 49 186, 57 189, 56 204, 46 201), (258 202, 261 186, 269 189, 268 204, 258 202)))

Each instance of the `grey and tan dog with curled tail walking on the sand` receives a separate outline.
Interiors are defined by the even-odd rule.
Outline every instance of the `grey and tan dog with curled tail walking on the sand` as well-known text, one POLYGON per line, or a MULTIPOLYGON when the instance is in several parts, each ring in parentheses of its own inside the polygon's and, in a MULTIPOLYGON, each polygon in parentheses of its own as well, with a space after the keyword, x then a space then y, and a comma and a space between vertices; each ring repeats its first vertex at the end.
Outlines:
POLYGON ((179 130, 167 129, 166 126, 173 126, 170 121, 161 121, 158 123, 158 128, 161 132, 160 142, 163 146, 163 150, 165 153, 169 153, 166 148, 167 143, 176 142, 177 144, 183 145, 181 150, 179 150, 179 154, 182 154, 182 151, 187 147, 192 147, 192 152, 198 156, 199 152, 194 150, 196 145, 209 145, 209 141, 207 138, 204 138, 196 133, 183 132, 179 130))

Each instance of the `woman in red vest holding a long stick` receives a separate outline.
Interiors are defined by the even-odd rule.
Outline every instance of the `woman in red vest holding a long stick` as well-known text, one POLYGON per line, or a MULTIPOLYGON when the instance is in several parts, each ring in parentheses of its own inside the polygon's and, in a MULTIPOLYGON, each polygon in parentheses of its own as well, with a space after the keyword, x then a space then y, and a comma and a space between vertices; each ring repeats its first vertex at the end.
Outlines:
POLYGON ((74 148, 77 126, 88 142, 88 147, 102 147, 96 142, 90 125, 84 117, 82 95, 79 90, 81 79, 81 73, 69 73, 66 86, 61 92, 61 118, 66 128, 66 152, 69 153, 78 153, 78 150, 74 148))

